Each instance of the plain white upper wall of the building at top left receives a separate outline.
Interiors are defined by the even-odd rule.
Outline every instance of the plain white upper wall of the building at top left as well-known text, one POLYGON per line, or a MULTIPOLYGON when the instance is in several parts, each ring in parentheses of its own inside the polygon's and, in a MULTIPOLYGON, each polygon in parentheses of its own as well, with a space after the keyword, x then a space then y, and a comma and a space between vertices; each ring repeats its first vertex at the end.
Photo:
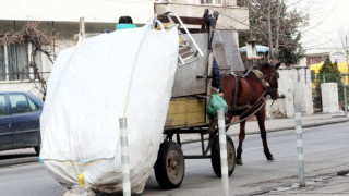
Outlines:
POLYGON ((0 20, 113 23, 131 15, 144 24, 154 14, 153 0, 10 0, 1 2, 0 20))

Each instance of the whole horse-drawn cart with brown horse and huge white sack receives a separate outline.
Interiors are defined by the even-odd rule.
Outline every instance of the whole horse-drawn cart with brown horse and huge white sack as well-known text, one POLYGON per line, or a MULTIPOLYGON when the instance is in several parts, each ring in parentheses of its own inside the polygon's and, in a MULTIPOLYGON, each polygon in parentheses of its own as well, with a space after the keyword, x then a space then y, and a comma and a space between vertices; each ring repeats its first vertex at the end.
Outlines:
POLYGON ((246 71, 241 76, 220 76, 237 71, 233 60, 239 60, 239 53, 231 52, 238 49, 229 42, 233 40, 230 30, 213 30, 216 20, 217 14, 205 13, 204 19, 195 19, 167 13, 153 17, 144 28, 81 39, 61 52, 48 82, 40 120, 40 159, 55 179, 77 191, 119 193, 131 186, 132 193, 139 194, 153 167, 161 187, 176 188, 184 176, 184 159, 202 158, 210 158, 220 176, 218 123, 216 117, 207 114, 219 87, 225 90, 229 108, 226 117, 231 120, 232 115, 240 115, 242 121, 237 156, 227 136, 228 167, 224 169, 228 168, 231 174, 236 162, 242 164, 244 121, 252 114, 258 120, 266 158, 273 160, 266 142, 264 106, 266 95, 277 98, 280 64, 262 65, 258 74, 246 71), (155 24, 161 32, 154 30, 155 24), (156 112, 147 114, 152 110, 156 112), (120 126, 116 117, 122 117, 120 126), (159 135, 163 128, 164 143, 159 135), (200 134, 200 155, 183 155, 183 134, 200 134), (207 137, 208 142, 204 139, 207 137))

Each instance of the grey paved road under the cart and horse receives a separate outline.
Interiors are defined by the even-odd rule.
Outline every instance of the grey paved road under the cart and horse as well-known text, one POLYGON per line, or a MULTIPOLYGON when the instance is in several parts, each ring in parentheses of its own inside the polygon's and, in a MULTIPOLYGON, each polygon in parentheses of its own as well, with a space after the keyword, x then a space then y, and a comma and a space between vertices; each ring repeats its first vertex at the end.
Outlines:
MULTIPOLYGON (((304 128, 304 159, 308 184, 314 184, 337 171, 349 169, 349 123, 304 128)), ((237 138, 233 138, 238 144, 237 138)), ((269 148, 276 161, 267 162, 260 135, 248 135, 244 143, 243 166, 237 166, 230 177, 234 195, 263 194, 288 188, 298 182, 294 131, 270 133, 269 148)), ((183 146, 184 154, 200 150, 200 144, 183 146)), ((220 179, 212 170, 210 160, 186 160, 182 186, 174 191, 159 189, 154 175, 144 195, 221 195, 220 179)), ((40 163, 0 168, 0 195, 61 195, 61 187, 40 163)), ((275 193, 275 192, 274 192, 275 193)), ((280 192, 282 195, 282 192, 280 192)))

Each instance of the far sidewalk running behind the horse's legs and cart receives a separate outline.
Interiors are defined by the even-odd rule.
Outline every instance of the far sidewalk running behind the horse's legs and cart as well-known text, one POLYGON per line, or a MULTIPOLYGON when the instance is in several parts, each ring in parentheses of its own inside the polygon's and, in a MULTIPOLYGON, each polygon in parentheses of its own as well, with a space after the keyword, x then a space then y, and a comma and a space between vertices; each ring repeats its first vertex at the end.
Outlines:
MULTIPOLYGON (((344 112, 336 113, 314 113, 309 115, 302 115, 302 127, 315 127, 326 124, 335 124, 349 122, 349 117, 344 115, 344 112)), ((288 119, 270 119, 265 121, 265 128, 267 133, 279 132, 286 130, 294 130, 296 120, 294 118, 288 119)), ((228 130, 228 134, 232 137, 239 135, 240 124, 231 125, 228 130)), ((245 124, 245 134, 260 134, 260 127, 257 121, 248 121, 245 124)), ((193 143, 200 140, 200 134, 181 134, 181 142, 193 143)))

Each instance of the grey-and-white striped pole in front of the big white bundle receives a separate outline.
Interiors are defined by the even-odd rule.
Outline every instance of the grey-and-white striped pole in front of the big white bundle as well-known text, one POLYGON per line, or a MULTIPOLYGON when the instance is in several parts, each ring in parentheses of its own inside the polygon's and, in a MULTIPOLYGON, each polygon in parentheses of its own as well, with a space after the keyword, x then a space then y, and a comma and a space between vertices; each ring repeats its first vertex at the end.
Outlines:
POLYGON ((123 196, 131 196, 127 118, 119 118, 119 123, 120 123, 120 140, 121 140, 122 192, 123 192, 123 196))

